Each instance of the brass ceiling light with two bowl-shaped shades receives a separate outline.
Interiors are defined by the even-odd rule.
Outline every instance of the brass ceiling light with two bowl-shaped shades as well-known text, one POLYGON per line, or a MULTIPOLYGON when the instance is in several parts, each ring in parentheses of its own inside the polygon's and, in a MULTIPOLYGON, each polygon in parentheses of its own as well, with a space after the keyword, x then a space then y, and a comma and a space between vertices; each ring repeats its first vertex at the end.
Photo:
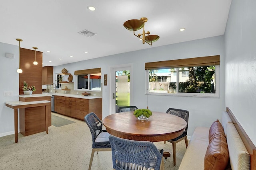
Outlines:
POLYGON ((148 21, 148 18, 140 18, 140 20, 128 20, 124 22, 124 27, 130 31, 133 31, 133 34, 138 37, 139 39, 142 39, 142 43, 144 44, 145 42, 148 43, 149 45, 152 45, 152 42, 155 42, 156 40, 159 39, 158 35, 149 35, 150 32, 147 31, 145 33, 144 30, 144 23, 148 21), (143 28, 142 34, 135 34, 135 31, 138 31, 143 28), (147 34, 147 36, 145 36, 147 34), (140 37, 142 35, 142 37, 140 37))

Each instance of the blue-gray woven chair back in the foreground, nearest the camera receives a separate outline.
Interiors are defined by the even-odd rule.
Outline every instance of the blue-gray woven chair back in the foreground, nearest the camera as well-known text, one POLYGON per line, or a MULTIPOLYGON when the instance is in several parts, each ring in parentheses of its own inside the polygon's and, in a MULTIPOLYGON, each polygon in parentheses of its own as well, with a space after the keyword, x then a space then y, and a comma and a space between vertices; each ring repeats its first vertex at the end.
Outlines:
POLYGON ((132 141, 110 135, 115 170, 164 170, 163 150, 148 141, 132 141))

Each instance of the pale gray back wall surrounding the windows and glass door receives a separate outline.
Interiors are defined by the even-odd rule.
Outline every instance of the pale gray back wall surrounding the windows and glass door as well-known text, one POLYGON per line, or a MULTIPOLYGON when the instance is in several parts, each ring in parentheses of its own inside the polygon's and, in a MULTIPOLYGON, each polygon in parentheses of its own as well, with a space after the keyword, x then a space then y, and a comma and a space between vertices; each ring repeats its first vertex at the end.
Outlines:
MULTIPOLYGON (((111 74, 110 67, 132 64, 133 81, 130 83, 134 88, 131 92, 131 105, 146 108, 145 63, 210 55, 220 55, 220 98, 148 95, 148 107, 152 111, 165 112, 170 107, 188 110, 190 112, 188 135, 191 136, 195 127, 210 127, 213 121, 221 119, 221 113, 226 109, 224 104, 224 35, 54 66, 54 73, 61 72, 63 68, 74 74, 75 70, 101 67, 102 75, 108 74, 109 77, 111 74)), ((102 87, 103 118, 112 113, 109 81, 108 86, 102 87)))

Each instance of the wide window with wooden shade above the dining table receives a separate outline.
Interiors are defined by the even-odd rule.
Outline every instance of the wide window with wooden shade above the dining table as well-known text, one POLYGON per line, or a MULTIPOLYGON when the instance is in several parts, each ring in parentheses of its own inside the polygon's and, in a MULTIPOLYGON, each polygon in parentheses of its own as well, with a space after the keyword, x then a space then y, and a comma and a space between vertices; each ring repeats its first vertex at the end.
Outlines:
POLYGON ((218 97, 219 63, 220 56, 145 63, 146 93, 218 97))

